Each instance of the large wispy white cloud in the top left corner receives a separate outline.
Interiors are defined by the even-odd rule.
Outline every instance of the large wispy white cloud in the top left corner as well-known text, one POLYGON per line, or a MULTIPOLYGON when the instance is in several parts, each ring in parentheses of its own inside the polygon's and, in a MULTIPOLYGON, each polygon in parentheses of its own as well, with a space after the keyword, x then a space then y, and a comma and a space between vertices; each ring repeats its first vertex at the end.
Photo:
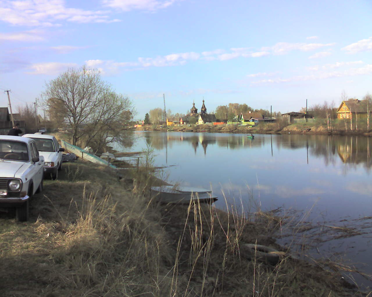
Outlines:
POLYGON ((111 23, 107 12, 68 8, 64 0, 3 0, 0 20, 18 26, 61 26, 61 21, 76 23, 111 23))

